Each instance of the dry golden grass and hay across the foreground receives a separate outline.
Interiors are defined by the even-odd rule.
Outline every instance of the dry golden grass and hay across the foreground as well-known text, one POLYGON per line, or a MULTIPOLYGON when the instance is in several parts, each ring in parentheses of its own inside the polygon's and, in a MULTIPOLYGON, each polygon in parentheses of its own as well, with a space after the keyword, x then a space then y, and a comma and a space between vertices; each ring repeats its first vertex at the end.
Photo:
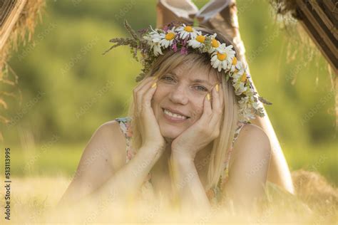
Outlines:
MULTIPOLYGON (((68 177, 26 177, 12 179, 11 222, 18 224, 64 223, 88 224, 92 222, 114 223, 158 223, 170 224, 178 221, 191 224, 242 223, 270 224, 337 224, 337 189, 330 186, 317 172, 299 170, 292 173, 297 196, 282 191, 268 183, 266 199, 260 206, 243 214, 233 210, 215 208, 209 214, 183 215, 163 204, 139 201, 121 204, 101 202, 86 207, 55 209, 58 199, 68 186, 68 177)), ((4 190, 1 189, 1 195, 4 190)), ((1 205, 4 198, 1 198, 1 205)), ((1 207, 2 208, 2 207, 1 207)), ((1 221, 4 219, 1 216, 1 221)), ((1 223, 2 224, 2 223, 1 223)))

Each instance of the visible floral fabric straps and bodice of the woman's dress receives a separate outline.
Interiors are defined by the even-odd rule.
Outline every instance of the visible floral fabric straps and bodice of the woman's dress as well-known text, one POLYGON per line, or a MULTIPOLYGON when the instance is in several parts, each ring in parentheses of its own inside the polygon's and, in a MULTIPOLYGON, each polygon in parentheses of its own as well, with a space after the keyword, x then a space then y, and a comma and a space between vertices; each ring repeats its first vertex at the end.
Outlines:
MULTIPOLYGON (((123 132, 123 134, 126 137, 126 163, 128 163, 130 161, 130 159, 132 159, 135 156, 135 152, 133 151, 133 149, 131 148, 131 138, 133 137, 133 131, 130 128, 130 117, 119 117, 115 119, 116 121, 118 121, 121 131, 123 132)), ((235 140, 237 139, 238 135, 240 134, 240 130, 242 129, 242 127, 244 127, 244 125, 246 124, 246 122, 237 122, 237 128, 235 130, 235 135, 234 135, 234 139, 232 140, 232 145, 230 147, 230 149, 227 151, 226 156, 225 156, 225 162, 223 164, 223 172, 220 176, 220 180, 217 182, 217 185, 215 185, 214 187, 211 187, 210 189, 208 189, 207 192, 205 192, 208 196, 208 199, 210 201, 211 204, 218 204, 222 201, 222 187, 224 187, 225 183, 227 182, 227 179, 229 177, 229 162, 230 162, 230 157, 231 157, 231 153, 232 153, 232 149, 235 143, 235 140)), ((145 181, 143 182, 143 184, 150 184, 151 186, 151 174, 150 172, 148 173, 147 178, 145 179, 145 181)))

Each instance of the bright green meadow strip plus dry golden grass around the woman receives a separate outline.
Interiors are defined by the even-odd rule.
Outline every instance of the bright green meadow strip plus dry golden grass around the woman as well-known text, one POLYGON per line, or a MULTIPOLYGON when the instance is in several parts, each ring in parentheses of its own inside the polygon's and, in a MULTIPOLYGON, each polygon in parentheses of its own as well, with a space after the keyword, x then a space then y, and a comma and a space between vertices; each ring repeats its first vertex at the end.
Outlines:
MULTIPOLYGON (((337 219, 337 153, 334 145, 322 148, 285 147, 285 155, 292 170, 297 196, 283 192, 268 183, 265 208, 262 212, 252 212, 243 216, 233 210, 215 209, 206 216, 188 217, 175 211, 163 211, 148 201, 135 204, 135 208, 121 206, 92 205, 78 211, 53 211, 58 199, 65 192, 71 177, 81 158, 86 143, 76 145, 54 144, 50 147, 29 148, 11 147, 11 223, 21 224, 48 222, 51 219, 63 221, 130 221, 175 223, 175 221, 193 221, 194 224, 212 223, 250 223, 266 224, 284 221, 294 224, 334 224, 337 219), (323 175, 323 177, 317 173, 323 175), (329 183, 327 183, 327 181, 329 183), (94 212, 95 209, 99 211, 94 212), (88 210, 88 213, 84 213, 88 210), (94 211, 93 211, 94 210, 94 211), (125 211, 127 210, 127 211, 125 211), (83 217, 84 215, 84 217, 83 217), (133 215, 133 216, 130 216, 133 215), (192 220, 193 218, 193 220, 192 220)), ((1 156, 3 158, 4 155, 1 156)), ((1 171, 2 172, 2 171, 1 171)), ((1 174, 3 176, 3 174, 1 174)), ((4 194, 4 188, 0 189, 4 194)), ((4 205, 4 198, 0 200, 4 205)), ((72 210, 76 210, 72 209, 72 210)), ((0 224, 4 219, 1 216, 0 224)))

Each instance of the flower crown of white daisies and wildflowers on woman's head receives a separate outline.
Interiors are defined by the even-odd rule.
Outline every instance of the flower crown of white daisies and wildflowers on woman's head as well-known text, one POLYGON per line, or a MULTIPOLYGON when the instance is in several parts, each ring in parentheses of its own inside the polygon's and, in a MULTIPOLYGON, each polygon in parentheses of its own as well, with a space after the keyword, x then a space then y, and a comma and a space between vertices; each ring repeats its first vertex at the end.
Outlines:
POLYGON ((180 51, 182 54, 188 54, 190 51, 208 53, 211 66, 216 68, 218 72, 223 71, 225 80, 230 82, 235 89, 241 122, 250 122, 251 119, 255 119, 255 115, 263 117, 261 103, 272 104, 257 95, 252 85, 251 76, 247 71, 247 65, 236 58, 232 45, 227 46, 225 43, 217 41, 217 33, 203 35, 202 31, 198 31, 198 28, 172 22, 163 29, 153 29, 150 26, 150 29, 138 31, 140 33, 138 35, 130 28, 127 21, 125 21, 125 26, 132 38, 111 39, 110 42, 116 44, 105 53, 117 46, 130 46, 133 58, 138 61, 137 52, 140 51, 143 73, 138 75, 137 82, 144 78, 155 59, 159 55, 163 55, 163 51, 166 49, 171 49, 174 52, 180 51))

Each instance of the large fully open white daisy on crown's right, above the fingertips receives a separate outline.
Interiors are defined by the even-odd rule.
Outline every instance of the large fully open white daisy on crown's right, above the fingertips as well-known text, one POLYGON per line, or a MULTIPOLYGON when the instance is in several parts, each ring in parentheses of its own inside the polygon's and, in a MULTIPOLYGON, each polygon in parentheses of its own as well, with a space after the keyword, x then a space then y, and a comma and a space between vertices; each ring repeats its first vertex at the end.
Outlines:
POLYGON ((211 65, 213 68, 218 68, 218 72, 222 69, 227 70, 227 65, 232 63, 232 58, 235 57, 235 51, 232 50, 232 47, 232 45, 225 46, 225 43, 222 43, 211 54, 211 65))

